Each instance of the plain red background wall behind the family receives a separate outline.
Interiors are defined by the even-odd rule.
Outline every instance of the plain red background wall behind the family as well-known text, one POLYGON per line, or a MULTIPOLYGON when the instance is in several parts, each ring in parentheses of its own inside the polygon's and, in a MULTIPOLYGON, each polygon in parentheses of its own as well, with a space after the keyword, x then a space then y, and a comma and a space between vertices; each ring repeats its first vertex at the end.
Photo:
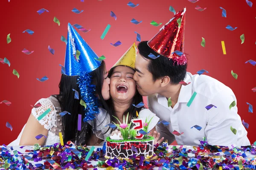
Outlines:
MULTIPOLYGON (((255 93, 251 90, 256 86, 255 67, 249 63, 249 59, 255 57, 255 5, 250 8, 245 0, 199 0, 191 3, 188 0, 132 0, 134 4, 140 5, 136 8, 127 6, 129 0, 1 0, 1 32, 0 46, 2 52, 0 58, 9 59, 11 66, 0 64, 0 101, 12 102, 10 106, 0 105, 1 114, 1 137, 0 145, 12 142, 21 128, 26 123, 32 107, 38 99, 47 98, 51 94, 58 94, 58 83, 61 77, 61 67, 64 65, 65 43, 61 36, 67 38, 67 23, 80 24, 87 33, 78 30, 79 34, 99 55, 106 57, 107 68, 111 66, 125 53, 125 51, 136 41, 134 31, 140 33, 142 40, 149 40, 163 26, 152 26, 152 20, 157 23, 167 23, 173 17, 169 6, 176 11, 187 7, 185 28, 185 52, 189 54, 188 71, 196 74, 197 71, 205 69, 209 76, 218 79, 229 86, 236 94, 238 100, 239 115, 241 119, 249 123, 248 137, 250 142, 256 140, 254 130, 255 113, 248 113, 249 102, 256 106, 255 93), (195 6, 207 7, 204 11, 197 11, 195 6), (222 10, 227 10, 227 18, 221 17, 222 10), (47 9, 39 15, 37 11, 41 8, 47 9), (71 10, 77 8, 81 14, 75 14, 71 10), (110 16, 113 11, 117 20, 110 16), (53 22, 57 17, 61 25, 53 22), (131 19, 142 23, 135 25, 131 19), (104 40, 100 39, 105 27, 110 24, 104 40), (238 27, 234 31, 225 27, 230 25, 238 27), (33 35, 22 33, 30 29, 35 31, 33 35), (10 33, 12 42, 6 43, 7 34, 10 33), (245 35, 245 41, 241 44, 240 35, 245 35), (206 46, 201 46, 204 37, 206 46), (118 40, 122 45, 114 47, 110 43, 118 40), (227 55, 221 48, 221 41, 225 41, 227 55), (48 45, 55 49, 52 55, 48 51, 48 45), (23 54, 23 48, 35 51, 30 55, 23 54), (16 69, 20 78, 12 74, 16 69), (238 74, 234 79, 230 74, 233 70, 238 74), (45 82, 39 82, 47 76, 45 82), (9 122, 13 130, 6 127, 9 122)), ((256 3, 255 0, 252 0, 256 3)), ((145 101, 144 101, 145 102, 145 101)))

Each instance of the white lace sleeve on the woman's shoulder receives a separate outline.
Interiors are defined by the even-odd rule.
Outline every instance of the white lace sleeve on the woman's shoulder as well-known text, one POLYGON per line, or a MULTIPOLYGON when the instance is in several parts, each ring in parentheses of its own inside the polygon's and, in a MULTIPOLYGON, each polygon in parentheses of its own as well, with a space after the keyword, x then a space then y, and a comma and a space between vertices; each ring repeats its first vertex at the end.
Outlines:
MULTIPOLYGON (((38 119, 43 113, 48 112, 39 123, 44 125, 44 128, 50 130, 52 127, 55 126, 55 119, 56 119, 56 109, 52 102, 49 99, 40 99, 38 102, 41 103, 41 106, 38 108, 32 108, 32 115, 35 116, 35 119, 38 119)), ((36 102, 36 104, 38 103, 36 102)))

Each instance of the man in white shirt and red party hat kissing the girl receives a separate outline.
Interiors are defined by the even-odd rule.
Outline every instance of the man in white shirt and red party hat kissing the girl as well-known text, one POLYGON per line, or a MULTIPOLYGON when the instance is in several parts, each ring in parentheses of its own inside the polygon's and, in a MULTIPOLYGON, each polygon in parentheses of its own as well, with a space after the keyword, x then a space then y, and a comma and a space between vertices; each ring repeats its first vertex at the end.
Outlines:
POLYGON ((186 72, 184 10, 175 14, 150 41, 138 45, 134 74, 137 89, 160 120, 157 131, 171 144, 250 145, 237 114, 233 91, 206 75, 186 72), (168 124, 169 122, 169 124, 168 124))

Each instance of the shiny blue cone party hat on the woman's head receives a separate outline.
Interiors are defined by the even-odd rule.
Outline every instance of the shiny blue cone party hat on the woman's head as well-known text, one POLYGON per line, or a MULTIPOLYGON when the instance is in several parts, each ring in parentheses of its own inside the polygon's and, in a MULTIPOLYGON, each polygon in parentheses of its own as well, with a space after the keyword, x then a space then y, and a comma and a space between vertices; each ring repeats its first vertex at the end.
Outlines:
POLYGON ((77 76, 83 72, 90 73, 98 68, 101 62, 96 60, 99 58, 97 54, 70 23, 68 23, 67 29, 67 48, 64 65, 65 74, 77 76), (76 57, 77 50, 80 51, 79 57, 76 57))

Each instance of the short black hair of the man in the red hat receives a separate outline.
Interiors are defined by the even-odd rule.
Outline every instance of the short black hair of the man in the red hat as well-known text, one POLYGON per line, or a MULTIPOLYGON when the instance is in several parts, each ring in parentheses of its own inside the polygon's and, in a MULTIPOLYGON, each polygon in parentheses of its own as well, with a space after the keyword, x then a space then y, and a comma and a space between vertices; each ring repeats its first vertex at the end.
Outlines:
POLYGON ((162 55, 156 59, 151 59, 148 57, 150 53, 155 56, 158 56, 159 54, 148 46, 148 41, 140 42, 138 44, 138 49, 141 56, 150 59, 147 67, 148 71, 153 75, 153 81, 164 76, 169 76, 171 83, 177 85, 181 80, 185 79, 187 63, 185 65, 177 65, 177 63, 173 64, 172 59, 162 55))

